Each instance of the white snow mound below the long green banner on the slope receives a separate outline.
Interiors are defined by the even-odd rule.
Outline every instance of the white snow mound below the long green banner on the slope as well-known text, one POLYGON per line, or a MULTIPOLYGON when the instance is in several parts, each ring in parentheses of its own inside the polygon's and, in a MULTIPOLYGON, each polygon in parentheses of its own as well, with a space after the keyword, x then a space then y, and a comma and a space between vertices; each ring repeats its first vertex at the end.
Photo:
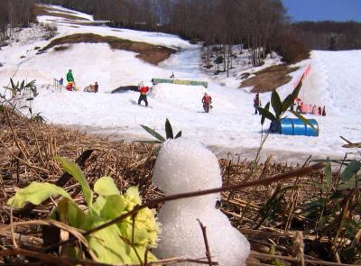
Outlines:
POLYGON ((157 84, 153 86, 150 97, 157 102, 172 105, 190 111, 199 111, 201 100, 207 91, 202 86, 186 86, 175 84, 157 84))

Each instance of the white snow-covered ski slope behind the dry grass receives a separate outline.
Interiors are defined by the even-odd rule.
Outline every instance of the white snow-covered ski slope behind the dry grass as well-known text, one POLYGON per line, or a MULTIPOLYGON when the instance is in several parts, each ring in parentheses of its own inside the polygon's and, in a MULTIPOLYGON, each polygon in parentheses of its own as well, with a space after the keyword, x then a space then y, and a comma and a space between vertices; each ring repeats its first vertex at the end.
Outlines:
MULTIPOLYGON (((72 12, 56 6, 56 12, 72 12)), ((77 13, 79 14, 79 13, 77 13)), ((89 22, 87 14, 79 17, 89 22)), ((139 124, 163 132, 169 118, 175 131, 182 130, 185 138, 205 143, 219 156, 228 152, 253 158, 260 143, 260 116, 253 115, 250 89, 237 89, 239 80, 231 75, 214 79, 201 68, 201 45, 192 45, 179 37, 157 32, 115 30, 101 25, 79 25, 74 21, 51 15, 38 18, 42 23, 57 23, 59 35, 97 33, 131 41, 145 41, 178 50, 158 66, 135 58, 136 53, 111 50, 105 43, 73 44, 68 50, 36 54, 35 47, 49 41, 37 38, 33 29, 24 29, 19 41, 0 50, 0 85, 9 78, 37 80, 40 95, 32 103, 34 113, 41 112, 49 122, 75 127, 89 133, 111 135, 112 138, 139 140, 149 135, 139 124), (21 58, 23 57, 23 58, 21 58), (77 86, 84 88, 95 81, 99 93, 69 92, 52 87, 53 78, 63 77, 72 69, 77 86), (136 105, 138 93, 111 94, 117 87, 137 85, 152 78, 175 78, 208 81, 208 94, 213 98, 213 110, 204 114, 200 103, 205 88, 162 84, 153 87, 149 96, 152 108, 136 105), (232 78, 233 77, 233 78, 232 78), (223 85, 223 86, 222 86, 223 85)), ((281 96, 292 91, 293 83, 310 64, 310 75, 304 80, 301 98, 306 103, 326 105, 327 116, 307 115, 319 122, 319 137, 272 134, 264 144, 263 158, 273 154, 280 161, 303 161, 309 155, 316 158, 342 157, 346 150, 340 135, 359 142, 361 137, 361 50, 312 51, 310 60, 297 64, 292 81, 278 89, 281 96)), ((277 63, 267 61, 267 64, 277 63)), ((270 93, 261 95, 266 103, 270 93)), ((290 115, 292 116, 292 115, 290 115)), ((267 125, 265 125, 267 127, 267 125)))

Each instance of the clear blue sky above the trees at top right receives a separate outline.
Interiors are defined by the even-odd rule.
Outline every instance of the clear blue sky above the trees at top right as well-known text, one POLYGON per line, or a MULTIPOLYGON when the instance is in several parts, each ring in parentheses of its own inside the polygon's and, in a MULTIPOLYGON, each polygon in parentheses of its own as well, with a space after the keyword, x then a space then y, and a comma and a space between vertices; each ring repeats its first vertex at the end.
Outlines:
POLYGON ((361 22, 361 0, 282 0, 292 22, 350 21, 361 22))

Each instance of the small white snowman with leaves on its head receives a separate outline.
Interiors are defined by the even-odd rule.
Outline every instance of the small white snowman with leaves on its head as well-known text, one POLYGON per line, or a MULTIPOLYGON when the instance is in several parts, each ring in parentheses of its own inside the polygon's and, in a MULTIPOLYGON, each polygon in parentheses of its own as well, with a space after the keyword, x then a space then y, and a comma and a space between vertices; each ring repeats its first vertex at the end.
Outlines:
MULTIPOLYGON (((166 195, 222 186, 218 160, 212 151, 182 138, 164 142, 155 162, 153 181, 166 195)), ((155 254, 159 258, 204 258, 199 219, 207 227, 212 261, 221 266, 245 265, 250 245, 227 216, 215 208, 219 197, 218 193, 166 202, 159 213, 162 234, 155 254)))

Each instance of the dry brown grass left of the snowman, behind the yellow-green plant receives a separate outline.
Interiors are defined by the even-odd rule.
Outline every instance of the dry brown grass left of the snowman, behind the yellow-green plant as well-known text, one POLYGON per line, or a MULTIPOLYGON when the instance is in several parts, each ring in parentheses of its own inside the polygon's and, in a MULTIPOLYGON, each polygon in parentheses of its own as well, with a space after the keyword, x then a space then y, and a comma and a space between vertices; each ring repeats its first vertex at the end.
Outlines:
MULTIPOLYGON (((75 161, 88 149, 95 150, 84 168, 90 184, 99 177, 111 175, 120 189, 138 184, 144 198, 157 194, 149 182, 152 170, 149 165, 155 160, 153 147, 110 142, 106 138, 96 138, 64 127, 39 124, 19 115, 0 112, 0 177, 3 182, 1 203, 13 195, 17 188, 23 188, 32 181, 59 179, 62 171, 55 156, 75 161)), ((70 193, 78 189, 78 186, 72 186, 74 184, 73 181, 67 184, 70 193)), ((48 207, 42 208, 45 216, 51 210, 48 207)), ((6 207, 0 211, 3 224, 9 222, 7 211, 6 207)))

